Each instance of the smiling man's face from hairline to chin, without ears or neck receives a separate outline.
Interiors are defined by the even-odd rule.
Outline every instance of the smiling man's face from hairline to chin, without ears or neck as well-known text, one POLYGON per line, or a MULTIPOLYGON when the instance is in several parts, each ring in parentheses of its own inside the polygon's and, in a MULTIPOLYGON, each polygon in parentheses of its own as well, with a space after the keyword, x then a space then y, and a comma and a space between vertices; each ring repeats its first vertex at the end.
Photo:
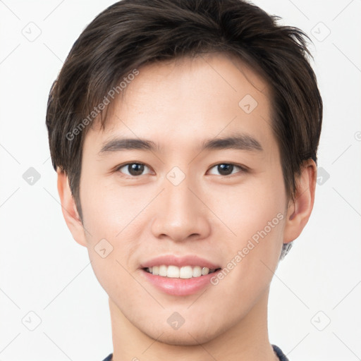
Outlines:
POLYGON ((281 253, 271 98, 221 54, 138 70, 105 129, 85 137, 85 242, 114 317, 165 343, 202 343, 259 310, 281 253))

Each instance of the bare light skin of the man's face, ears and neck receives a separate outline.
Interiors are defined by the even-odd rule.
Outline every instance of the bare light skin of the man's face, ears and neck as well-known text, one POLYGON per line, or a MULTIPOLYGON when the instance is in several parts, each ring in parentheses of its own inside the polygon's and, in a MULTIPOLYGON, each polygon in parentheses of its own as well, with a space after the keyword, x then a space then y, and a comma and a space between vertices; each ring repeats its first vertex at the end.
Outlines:
POLYGON ((82 222, 66 173, 58 173, 66 223, 109 295, 113 360, 276 360, 267 331, 269 285, 282 243, 300 235, 312 212, 316 164, 305 161, 296 200, 288 201, 267 84, 239 60, 209 54, 139 71, 105 129, 94 123, 85 137, 82 222), (238 106, 246 94, 258 103, 250 114, 238 106), (234 133, 254 137, 263 151, 200 152, 204 140, 234 133), (159 152, 100 152, 114 137, 152 140, 159 152), (140 176, 117 168, 132 162, 147 165, 140 176), (222 176, 217 164, 247 171, 235 167, 222 176), (185 174, 179 185, 166 178, 173 166, 185 174), (140 263, 164 254, 226 267, 277 214, 283 219, 216 286, 174 296, 142 276, 140 263), (113 247, 106 258, 94 250, 103 238, 113 247), (166 322, 173 312, 185 320, 177 330, 166 322))

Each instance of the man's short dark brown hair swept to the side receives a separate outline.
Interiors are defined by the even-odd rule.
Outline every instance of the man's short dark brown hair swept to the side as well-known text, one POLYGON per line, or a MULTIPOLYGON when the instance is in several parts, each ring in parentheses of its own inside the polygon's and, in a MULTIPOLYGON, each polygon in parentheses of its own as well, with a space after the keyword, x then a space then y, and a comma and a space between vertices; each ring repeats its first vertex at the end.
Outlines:
MULTIPOLYGON (((237 56, 269 85, 271 126, 294 200, 302 161, 317 162, 322 98, 310 38, 278 19, 243 0, 123 0, 100 13, 73 44, 47 106, 51 159, 67 173, 80 217, 82 144, 94 107, 140 66, 212 52, 237 56)), ((104 111, 100 118, 104 126, 104 111)))

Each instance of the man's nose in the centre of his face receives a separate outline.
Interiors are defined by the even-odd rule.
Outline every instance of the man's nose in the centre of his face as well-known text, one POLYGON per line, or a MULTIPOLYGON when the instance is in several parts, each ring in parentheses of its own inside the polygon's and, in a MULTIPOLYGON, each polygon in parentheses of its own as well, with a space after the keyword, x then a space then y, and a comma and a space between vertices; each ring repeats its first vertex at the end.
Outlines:
POLYGON ((158 212, 152 223, 154 236, 173 242, 207 238, 211 232, 210 212, 202 200, 200 186, 186 176, 178 185, 165 178, 164 188, 157 197, 158 212))

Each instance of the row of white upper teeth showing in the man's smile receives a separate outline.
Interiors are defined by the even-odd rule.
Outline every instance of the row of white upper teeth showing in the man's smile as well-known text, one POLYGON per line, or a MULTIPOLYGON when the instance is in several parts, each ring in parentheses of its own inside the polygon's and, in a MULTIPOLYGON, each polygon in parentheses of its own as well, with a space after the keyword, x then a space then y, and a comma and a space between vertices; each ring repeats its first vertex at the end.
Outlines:
POLYGON ((215 269, 200 266, 165 266, 161 264, 160 266, 149 267, 147 271, 150 274, 154 274, 154 276, 169 277, 171 279, 191 279, 192 277, 200 277, 213 273, 215 269))

